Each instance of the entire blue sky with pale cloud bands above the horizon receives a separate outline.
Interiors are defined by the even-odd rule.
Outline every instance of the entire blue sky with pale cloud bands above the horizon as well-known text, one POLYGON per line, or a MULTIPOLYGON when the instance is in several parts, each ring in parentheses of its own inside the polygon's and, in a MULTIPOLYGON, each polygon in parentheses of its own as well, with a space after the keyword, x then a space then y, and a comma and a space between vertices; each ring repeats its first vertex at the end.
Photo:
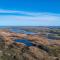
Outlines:
POLYGON ((60 26, 60 0, 0 0, 0 26, 60 26))

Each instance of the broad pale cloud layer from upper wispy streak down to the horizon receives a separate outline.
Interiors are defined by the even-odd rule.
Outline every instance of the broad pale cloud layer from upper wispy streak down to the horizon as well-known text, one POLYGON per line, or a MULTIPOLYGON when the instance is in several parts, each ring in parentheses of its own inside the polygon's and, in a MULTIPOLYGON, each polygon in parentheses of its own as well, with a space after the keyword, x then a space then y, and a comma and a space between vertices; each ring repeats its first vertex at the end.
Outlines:
POLYGON ((0 25, 53 25, 60 26, 60 14, 55 13, 40 13, 40 12, 25 12, 25 11, 13 11, 13 10, 1 10, 0 13, 11 13, 10 15, 0 15, 0 25), (19 14, 12 15, 12 14, 19 14), (24 14, 27 16, 21 16, 24 14))

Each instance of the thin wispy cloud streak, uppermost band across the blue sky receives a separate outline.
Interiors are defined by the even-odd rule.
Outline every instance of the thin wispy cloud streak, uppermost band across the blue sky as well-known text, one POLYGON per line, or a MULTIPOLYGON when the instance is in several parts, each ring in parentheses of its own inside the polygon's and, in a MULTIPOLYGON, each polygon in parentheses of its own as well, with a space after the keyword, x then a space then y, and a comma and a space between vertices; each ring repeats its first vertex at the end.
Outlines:
POLYGON ((31 16, 60 16, 60 14, 56 13, 48 13, 48 12, 26 12, 26 11, 16 11, 16 10, 3 10, 0 9, 0 13, 15 13, 15 14, 24 14, 31 16))

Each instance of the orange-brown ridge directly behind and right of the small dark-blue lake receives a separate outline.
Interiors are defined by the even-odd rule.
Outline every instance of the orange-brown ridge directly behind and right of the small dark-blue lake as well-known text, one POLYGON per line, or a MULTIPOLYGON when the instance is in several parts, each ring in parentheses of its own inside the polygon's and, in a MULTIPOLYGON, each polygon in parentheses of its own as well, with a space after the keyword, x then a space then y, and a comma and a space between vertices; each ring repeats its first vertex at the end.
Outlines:
POLYGON ((36 42, 38 44, 44 44, 44 45, 48 45, 49 42, 47 39, 40 37, 40 36, 35 36, 35 35, 28 35, 27 37, 28 40, 36 42))

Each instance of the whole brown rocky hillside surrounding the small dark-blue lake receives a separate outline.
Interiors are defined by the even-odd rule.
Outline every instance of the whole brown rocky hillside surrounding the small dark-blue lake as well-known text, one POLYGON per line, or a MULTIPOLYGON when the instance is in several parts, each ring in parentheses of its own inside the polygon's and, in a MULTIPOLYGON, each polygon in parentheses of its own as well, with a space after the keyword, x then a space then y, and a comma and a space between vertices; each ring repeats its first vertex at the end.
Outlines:
POLYGON ((54 43, 38 35, 0 30, 0 60, 60 60, 60 47, 54 43), (26 46, 15 39, 28 39, 33 45, 26 46))

